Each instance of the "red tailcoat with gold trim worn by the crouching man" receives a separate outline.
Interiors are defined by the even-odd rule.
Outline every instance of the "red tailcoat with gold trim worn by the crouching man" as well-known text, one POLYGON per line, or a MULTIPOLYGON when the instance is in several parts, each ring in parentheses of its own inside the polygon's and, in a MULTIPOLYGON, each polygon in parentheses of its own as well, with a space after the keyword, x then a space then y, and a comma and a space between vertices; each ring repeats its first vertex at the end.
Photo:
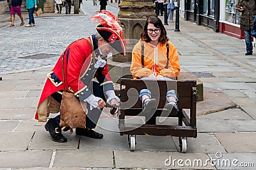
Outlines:
MULTIPOLYGON (((93 48, 96 50, 97 40, 94 36, 89 38, 93 41, 93 48)), ((104 92, 107 90, 114 90, 113 82, 108 74, 108 65, 99 67, 95 70, 92 60, 92 50, 89 42, 84 39, 79 39, 74 43, 68 45, 65 52, 60 56, 54 69, 47 74, 47 80, 45 82, 42 95, 38 103, 35 119, 39 122, 46 122, 49 113, 58 113, 60 111, 60 103, 56 102, 51 94, 63 90, 63 69, 62 58, 64 55, 64 75, 65 75, 65 89, 79 97, 81 101, 86 99, 92 94, 90 85, 92 79, 97 71, 97 80, 104 88, 104 92)))

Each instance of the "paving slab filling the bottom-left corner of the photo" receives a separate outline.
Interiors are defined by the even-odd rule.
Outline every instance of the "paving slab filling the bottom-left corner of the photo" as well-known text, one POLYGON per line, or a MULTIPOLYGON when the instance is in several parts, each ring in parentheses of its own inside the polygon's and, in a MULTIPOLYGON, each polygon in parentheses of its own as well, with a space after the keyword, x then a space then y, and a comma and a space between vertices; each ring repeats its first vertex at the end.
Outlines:
POLYGON ((49 167, 51 151, 0 152, 0 168, 49 167))

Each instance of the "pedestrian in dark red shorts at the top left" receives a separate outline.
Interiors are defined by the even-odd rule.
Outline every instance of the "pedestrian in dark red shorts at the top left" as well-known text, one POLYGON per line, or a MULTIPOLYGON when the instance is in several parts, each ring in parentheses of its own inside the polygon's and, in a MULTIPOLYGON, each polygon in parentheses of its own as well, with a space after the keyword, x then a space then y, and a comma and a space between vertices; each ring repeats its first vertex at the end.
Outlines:
POLYGON ((22 0, 12 0, 11 1, 10 15, 11 15, 12 24, 10 25, 10 27, 14 26, 14 15, 15 15, 15 13, 17 13, 17 15, 20 17, 20 21, 21 21, 20 26, 24 25, 23 16, 22 16, 21 10, 20 10, 21 4, 22 4, 22 0))

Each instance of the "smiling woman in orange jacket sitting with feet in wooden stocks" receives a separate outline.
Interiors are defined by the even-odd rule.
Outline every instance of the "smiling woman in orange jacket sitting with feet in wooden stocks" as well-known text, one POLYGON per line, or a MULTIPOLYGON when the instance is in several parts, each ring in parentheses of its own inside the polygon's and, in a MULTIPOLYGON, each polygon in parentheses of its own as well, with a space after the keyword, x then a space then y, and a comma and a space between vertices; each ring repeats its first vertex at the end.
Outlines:
MULTIPOLYGON (((179 76, 180 65, 177 49, 168 40, 166 29, 157 17, 148 17, 140 41, 132 50, 131 73, 134 79, 174 80, 179 76)), ((157 108, 156 99, 151 98, 148 89, 140 91, 144 113, 157 108)), ((177 115, 177 96, 171 89, 166 94, 166 108, 171 115, 177 115)))

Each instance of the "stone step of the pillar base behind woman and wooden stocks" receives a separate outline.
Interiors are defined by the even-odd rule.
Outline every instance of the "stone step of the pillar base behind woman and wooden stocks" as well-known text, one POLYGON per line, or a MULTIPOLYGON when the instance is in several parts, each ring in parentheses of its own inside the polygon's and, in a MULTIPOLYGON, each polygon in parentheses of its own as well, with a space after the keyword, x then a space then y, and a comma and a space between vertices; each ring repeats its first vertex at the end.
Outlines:
MULTIPOLYGON (((108 69, 111 79, 115 84, 115 94, 120 94, 120 78, 132 78, 130 72, 131 62, 115 62, 111 59, 108 60, 108 69)), ((177 80, 196 80, 196 90, 198 91, 197 101, 204 100, 204 85, 195 74, 180 72, 177 80)))

